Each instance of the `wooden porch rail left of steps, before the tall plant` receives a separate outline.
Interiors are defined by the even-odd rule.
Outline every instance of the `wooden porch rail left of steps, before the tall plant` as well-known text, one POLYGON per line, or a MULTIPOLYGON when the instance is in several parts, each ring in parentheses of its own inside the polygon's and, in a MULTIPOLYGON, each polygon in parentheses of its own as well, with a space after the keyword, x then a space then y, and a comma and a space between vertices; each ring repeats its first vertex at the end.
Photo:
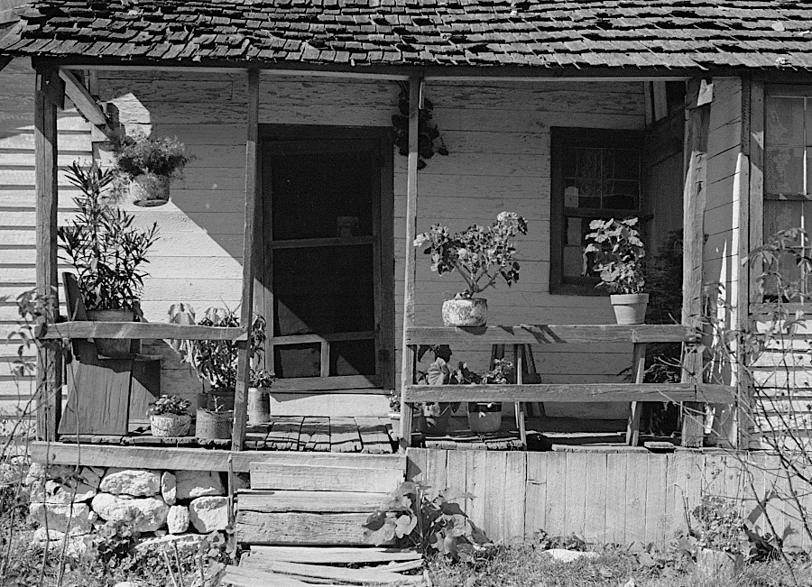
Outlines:
POLYGON ((41 340, 61 338, 173 338, 175 340, 226 340, 247 341, 248 335, 242 326, 186 326, 152 322, 60 322, 39 326, 36 337, 41 340))

